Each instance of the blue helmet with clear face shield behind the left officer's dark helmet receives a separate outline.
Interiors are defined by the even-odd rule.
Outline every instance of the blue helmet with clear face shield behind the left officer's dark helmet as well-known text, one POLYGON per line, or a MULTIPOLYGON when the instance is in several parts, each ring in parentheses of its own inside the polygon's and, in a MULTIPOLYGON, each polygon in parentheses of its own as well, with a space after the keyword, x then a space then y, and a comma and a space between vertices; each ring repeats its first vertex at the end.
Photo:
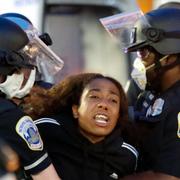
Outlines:
POLYGON ((52 76, 62 69, 64 62, 48 47, 52 45, 50 36, 47 33, 41 34, 22 14, 5 13, 1 16, 16 23, 27 34, 29 43, 21 52, 28 55, 37 67, 36 80, 51 81, 52 76))

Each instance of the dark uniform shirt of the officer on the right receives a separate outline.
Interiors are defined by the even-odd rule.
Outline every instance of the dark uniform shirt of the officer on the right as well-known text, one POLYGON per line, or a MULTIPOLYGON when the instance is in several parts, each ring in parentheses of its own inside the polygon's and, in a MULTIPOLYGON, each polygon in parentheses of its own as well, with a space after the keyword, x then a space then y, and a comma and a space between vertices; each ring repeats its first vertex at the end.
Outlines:
POLYGON ((154 98, 138 124, 149 130, 140 147, 141 170, 180 178, 180 81, 154 98))

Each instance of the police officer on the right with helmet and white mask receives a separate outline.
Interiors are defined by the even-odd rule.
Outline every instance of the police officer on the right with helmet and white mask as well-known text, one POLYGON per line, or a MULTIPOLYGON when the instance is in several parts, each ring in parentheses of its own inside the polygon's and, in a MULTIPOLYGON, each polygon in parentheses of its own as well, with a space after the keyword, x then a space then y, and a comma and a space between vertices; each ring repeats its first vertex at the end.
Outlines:
POLYGON ((138 56, 132 77, 154 94, 137 118, 137 126, 147 128, 140 141, 141 172, 127 180, 180 178, 179 18, 180 9, 175 8, 148 12, 133 27, 126 47, 126 52, 136 51, 138 56))

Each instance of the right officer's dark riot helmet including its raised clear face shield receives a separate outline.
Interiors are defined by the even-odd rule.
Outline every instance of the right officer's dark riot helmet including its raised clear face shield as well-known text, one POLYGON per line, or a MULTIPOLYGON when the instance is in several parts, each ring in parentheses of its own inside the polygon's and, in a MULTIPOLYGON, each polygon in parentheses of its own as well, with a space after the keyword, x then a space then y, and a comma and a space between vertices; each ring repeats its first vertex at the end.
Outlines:
POLYGON ((125 52, 151 46, 159 54, 168 55, 180 53, 179 17, 180 9, 162 8, 145 15, 141 11, 121 13, 101 22, 125 52))

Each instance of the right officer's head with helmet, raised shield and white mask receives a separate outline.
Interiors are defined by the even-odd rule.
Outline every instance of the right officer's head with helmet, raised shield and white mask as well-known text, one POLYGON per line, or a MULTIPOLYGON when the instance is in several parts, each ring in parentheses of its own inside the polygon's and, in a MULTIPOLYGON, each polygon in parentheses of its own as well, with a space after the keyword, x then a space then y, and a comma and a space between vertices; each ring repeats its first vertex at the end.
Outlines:
POLYGON ((163 74, 180 63, 180 9, 141 10, 102 19, 105 28, 127 52, 137 51, 131 77, 140 89, 160 91, 163 74), (173 63, 162 65, 172 54, 173 63))

